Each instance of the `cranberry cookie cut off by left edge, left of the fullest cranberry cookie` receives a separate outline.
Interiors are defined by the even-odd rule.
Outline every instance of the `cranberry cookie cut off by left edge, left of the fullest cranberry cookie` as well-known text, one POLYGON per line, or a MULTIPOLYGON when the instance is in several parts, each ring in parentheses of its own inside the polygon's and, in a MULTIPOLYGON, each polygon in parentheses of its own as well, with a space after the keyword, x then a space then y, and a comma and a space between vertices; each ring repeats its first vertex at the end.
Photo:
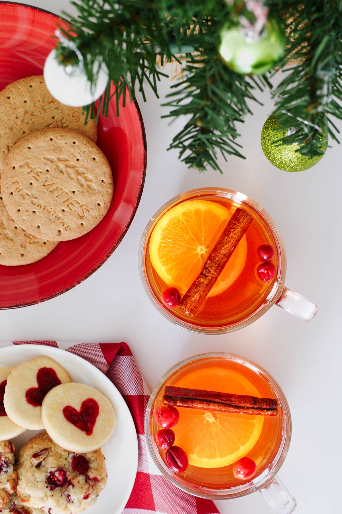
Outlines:
POLYGON ((10 441, 0 441, 0 509, 15 491, 18 475, 14 469, 14 446, 10 441))

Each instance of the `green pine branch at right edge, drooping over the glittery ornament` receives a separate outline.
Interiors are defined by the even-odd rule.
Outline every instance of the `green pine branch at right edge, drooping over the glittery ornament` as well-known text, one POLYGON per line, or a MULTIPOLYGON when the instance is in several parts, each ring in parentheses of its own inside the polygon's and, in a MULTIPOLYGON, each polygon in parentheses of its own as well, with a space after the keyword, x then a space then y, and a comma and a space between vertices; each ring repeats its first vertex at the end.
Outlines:
MULTIPOLYGON (((278 67, 296 59, 273 91, 279 130, 291 131, 283 144, 298 143, 309 158, 324 153, 321 133, 338 141, 330 115, 342 119, 342 2, 272 2, 288 15, 287 53, 278 67)), ((283 69, 287 71, 287 69, 283 69)), ((276 144, 276 143, 275 143, 276 144)))

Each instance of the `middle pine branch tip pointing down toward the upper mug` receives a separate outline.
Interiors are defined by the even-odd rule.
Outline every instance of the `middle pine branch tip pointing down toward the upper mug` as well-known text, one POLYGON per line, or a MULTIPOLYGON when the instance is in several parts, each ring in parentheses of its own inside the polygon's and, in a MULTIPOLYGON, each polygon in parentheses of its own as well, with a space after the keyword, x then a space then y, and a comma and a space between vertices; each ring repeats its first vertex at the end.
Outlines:
MULTIPOLYGON (((210 30, 214 27, 211 25, 210 30)), ((175 91, 165 104, 171 109, 166 117, 189 115, 190 119, 173 138, 170 149, 178 149, 179 157, 200 171, 207 164, 219 170, 217 153, 225 159, 232 154, 243 157, 235 141, 239 136, 236 122, 251 113, 247 99, 257 101, 252 81, 229 70, 215 47, 206 47, 200 56, 188 58, 184 81, 172 88, 175 91)))

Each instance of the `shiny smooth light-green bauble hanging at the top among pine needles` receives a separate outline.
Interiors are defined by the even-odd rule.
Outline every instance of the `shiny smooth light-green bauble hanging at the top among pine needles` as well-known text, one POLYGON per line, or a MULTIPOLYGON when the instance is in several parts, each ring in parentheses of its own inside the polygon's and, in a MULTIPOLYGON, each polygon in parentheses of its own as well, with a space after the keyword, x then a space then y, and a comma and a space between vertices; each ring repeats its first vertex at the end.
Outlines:
POLYGON ((224 25, 218 53, 238 73, 261 75, 284 55, 285 33, 275 20, 268 20, 258 40, 246 38, 239 27, 224 25))

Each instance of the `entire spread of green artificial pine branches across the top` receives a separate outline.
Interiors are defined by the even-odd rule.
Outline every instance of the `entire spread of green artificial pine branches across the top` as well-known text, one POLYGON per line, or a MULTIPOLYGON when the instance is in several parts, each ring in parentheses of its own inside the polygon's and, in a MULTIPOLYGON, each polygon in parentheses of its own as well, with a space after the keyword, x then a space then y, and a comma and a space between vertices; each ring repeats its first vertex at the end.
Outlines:
MULTIPOLYGON (((135 99, 136 86, 145 100, 144 88, 151 87, 157 95, 157 83, 165 75, 156 60, 182 59, 186 67, 172 86, 166 116, 187 115, 188 121, 170 148, 201 171, 208 165, 219 170, 218 154, 243 157, 236 123, 251 113, 247 102, 258 101, 257 88, 272 87, 272 73, 267 77, 233 71, 220 58, 218 46, 227 24, 235 27, 243 20, 246 28, 255 21, 248 0, 78 0, 73 5, 78 16, 68 16, 72 28, 64 35, 81 51, 92 84, 105 64, 117 106, 120 96, 127 101, 127 88, 130 100, 135 99)), ((270 15, 278 16, 284 33, 288 26, 284 56, 275 62, 277 73, 287 74, 273 96, 279 130, 291 130, 276 144, 298 143, 297 151, 312 158, 323 153, 322 131, 337 140, 331 117, 342 118, 342 1, 305 0, 298 6, 292 0, 266 0, 265 5, 270 15), (295 66, 287 68, 293 59, 295 66)), ((64 65, 77 64, 77 56, 63 43, 57 55, 64 65)), ((102 99, 105 115, 109 91, 102 99)), ((94 117, 94 107, 87 108, 94 117)))

